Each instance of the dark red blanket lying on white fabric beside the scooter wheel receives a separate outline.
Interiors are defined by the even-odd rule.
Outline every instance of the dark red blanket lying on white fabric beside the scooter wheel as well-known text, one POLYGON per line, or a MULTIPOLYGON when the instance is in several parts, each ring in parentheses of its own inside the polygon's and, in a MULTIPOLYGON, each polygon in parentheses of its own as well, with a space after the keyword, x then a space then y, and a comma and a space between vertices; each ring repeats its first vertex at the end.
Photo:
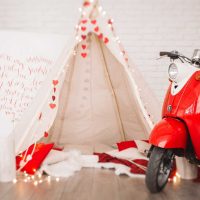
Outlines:
MULTIPOLYGON (((140 167, 138 167, 137 165, 135 165, 134 163, 132 163, 128 160, 116 158, 116 157, 110 156, 106 153, 95 153, 95 155, 99 156, 99 162, 101 162, 101 163, 112 162, 112 163, 116 163, 116 164, 122 164, 122 165, 126 165, 126 166, 130 167, 131 173, 145 174, 145 170, 141 169, 140 167)), ((137 160, 134 160, 134 162, 135 161, 138 164, 141 164, 145 167, 147 166, 147 163, 148 163, 148 161, 143 160, 143 159, 137 159, 137 160)))

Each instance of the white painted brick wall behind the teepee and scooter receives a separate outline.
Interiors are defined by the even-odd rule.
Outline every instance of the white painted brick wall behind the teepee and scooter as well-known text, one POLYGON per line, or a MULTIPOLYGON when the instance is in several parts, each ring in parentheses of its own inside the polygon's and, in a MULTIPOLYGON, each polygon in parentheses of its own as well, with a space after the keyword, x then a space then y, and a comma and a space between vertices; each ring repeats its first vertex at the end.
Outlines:
MULTIPOLYGON (((81 0, 0 0, 0 29, 69 35, 79 18, 81 0)), ((157 97, 167 87, 167 60, 160 50, 191 56, 200 48, 199 0, 102 0, 116 31, 157 97)))

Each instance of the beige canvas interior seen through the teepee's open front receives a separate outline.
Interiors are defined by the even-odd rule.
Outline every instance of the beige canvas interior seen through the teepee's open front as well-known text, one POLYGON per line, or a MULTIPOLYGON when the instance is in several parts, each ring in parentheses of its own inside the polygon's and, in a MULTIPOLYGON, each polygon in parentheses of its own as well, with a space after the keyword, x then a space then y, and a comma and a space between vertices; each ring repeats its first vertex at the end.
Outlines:
POLYGON ((50 130, 51 140, 59 145, 112 145, 146 138, 124 66, 94 33, 78 43, 75 51, 50 130))

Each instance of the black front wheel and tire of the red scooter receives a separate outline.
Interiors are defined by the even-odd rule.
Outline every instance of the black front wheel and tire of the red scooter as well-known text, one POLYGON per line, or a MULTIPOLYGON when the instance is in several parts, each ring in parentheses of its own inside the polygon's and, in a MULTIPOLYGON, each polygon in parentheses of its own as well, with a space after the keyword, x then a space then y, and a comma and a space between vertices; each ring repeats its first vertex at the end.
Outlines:
POLYGON ((174 163, 172 149, 154 147, 146 171, 146 185, 150 192, 160 192, 167 184, 174 163))

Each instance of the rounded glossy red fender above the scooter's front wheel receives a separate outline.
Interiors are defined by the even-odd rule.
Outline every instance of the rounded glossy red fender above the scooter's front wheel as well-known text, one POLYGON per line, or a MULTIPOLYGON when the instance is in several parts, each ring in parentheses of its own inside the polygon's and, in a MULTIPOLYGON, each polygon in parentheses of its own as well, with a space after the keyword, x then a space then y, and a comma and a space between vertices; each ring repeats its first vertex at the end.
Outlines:
POLYGON ((163 118, 150 135, 149 143, 161 148, 186 148, 187 130, 185 124, 175 118, 163 118))

